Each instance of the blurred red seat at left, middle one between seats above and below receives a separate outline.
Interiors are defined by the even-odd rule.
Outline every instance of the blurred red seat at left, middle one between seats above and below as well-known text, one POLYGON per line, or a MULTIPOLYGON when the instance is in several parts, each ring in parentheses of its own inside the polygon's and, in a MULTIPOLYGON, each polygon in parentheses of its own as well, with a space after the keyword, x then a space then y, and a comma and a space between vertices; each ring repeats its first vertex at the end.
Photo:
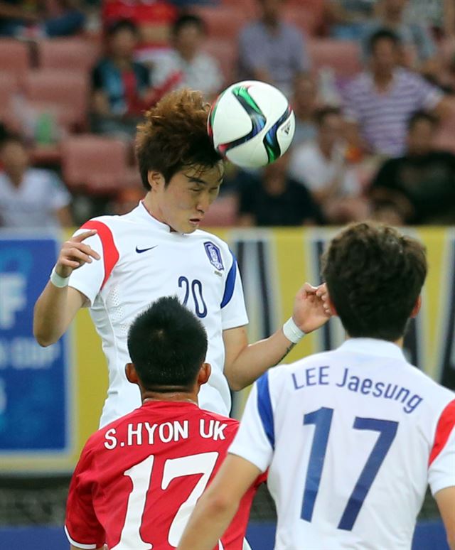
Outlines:
POLYGON ((41 69, 28 72, 23 79, 26 98, 45 108, 51 106, 64 124, 85 127, 89 82, 85 72, 41 69))

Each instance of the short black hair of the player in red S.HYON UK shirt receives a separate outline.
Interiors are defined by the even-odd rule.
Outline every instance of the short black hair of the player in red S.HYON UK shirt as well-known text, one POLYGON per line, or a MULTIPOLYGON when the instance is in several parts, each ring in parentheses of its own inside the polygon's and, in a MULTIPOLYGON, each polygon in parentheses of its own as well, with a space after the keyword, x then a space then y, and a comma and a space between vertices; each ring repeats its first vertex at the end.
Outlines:
POLYGON ((207 335, 175 296, 164 296, 134 320, 128 351, 145 389, 189 389, 204 362, 207 335))

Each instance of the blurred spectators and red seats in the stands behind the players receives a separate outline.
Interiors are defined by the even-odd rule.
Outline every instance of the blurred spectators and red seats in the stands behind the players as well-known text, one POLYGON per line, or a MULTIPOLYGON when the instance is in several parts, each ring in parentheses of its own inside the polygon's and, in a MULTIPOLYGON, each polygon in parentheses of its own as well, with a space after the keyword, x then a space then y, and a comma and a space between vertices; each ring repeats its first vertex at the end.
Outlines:
POLYGON ((144 110, 244 79, 289 97, 294 142, 276 166, 228 166, 205 225, 455 222, 453 1, 1 0, 0 226, 128 211, 144 110))

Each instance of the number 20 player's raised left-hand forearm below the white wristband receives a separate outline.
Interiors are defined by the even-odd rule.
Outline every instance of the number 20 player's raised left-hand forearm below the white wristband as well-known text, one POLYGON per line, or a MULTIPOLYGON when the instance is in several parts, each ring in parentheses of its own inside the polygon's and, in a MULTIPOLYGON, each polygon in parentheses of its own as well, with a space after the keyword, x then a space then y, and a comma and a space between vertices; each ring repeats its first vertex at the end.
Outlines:
POLYGON ((49 281, 33 311, 33 335, 39 345, 54 344, 65 333, 70 323, 67 303, 68 286, 60 289, 49 281))

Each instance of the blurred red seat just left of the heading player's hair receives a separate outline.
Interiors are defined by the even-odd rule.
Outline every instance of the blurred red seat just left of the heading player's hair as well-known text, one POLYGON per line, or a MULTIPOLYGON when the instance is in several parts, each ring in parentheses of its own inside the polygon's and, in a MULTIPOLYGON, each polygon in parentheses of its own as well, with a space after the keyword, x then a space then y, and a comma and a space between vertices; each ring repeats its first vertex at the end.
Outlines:
POLYGON ((127 165, 124 141, 84 134, 70 136, 61 146, 63 179, 69 188, 91 194, 111 194, 139 186, 137 170, 127 165))

